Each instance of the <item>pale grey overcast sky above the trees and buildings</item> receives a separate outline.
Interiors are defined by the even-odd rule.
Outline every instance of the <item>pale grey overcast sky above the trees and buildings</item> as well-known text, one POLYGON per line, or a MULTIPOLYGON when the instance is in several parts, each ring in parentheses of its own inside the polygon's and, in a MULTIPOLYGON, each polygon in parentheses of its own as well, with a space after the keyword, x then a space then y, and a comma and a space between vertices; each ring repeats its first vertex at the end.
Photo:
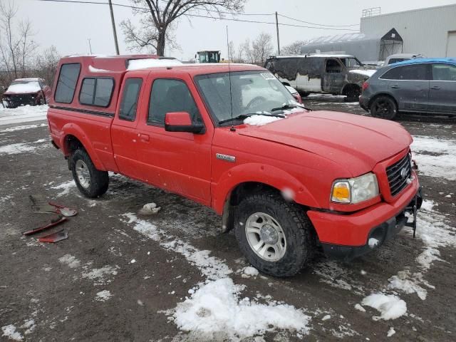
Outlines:
MULTIPOLYGON (((9 0, 0 0, 9 1, 9 0)), ((82 0, 88 1, 88 0, 82 0)), ((105 1, 107 0, 97 0, 105 1)), ((110 24, 109 7, 96 4, 58 4, 37 0, 15 0, 19 6, 18 17, 28 17, 36 31, 35 39, 40 47, 56 46, 62 55, 88 53, 88 38, 93 53, 113 54, 115 47, 110 24)), ((113 0, 117 4, 131 4, 129 0, 113 0)), ((454 4, 455 0, 345 0, 345 1, 304 1, 304 0, 247 0, 246 14, 279 14, 303 21, 324 25, 359 24, 361 11, 381 6, 382 14, 395 11, 420 9, 429 6, 454 4)), ((130 9, 115 6, 116 24, 124 19, 137 20, 130 9)), ((239 19, 257 21, 275 21, 274 16, 238 16, 239 19)), ((279 22, 306 25, 279 17, 279 22)), ((180 59, 190 59, 195 52, 204 49, 219 49, 226 55, 226 26, 229 28, 229 39, 235 46, 246 38, 255 38, 261 32, 271 33, 276 44, 275 25, 251 24, 213 19, 182 18, 178 21, 175 36, 182 51, 168 51, 167 55, 180 59)), ((358 29, 359 26, 351 28, 358 29)), ((296 40, 314 38, 316 36, 333 35, 343 31, 322 30, 315 28, 299 28, 280 26, 281 46, 296 40)), ((349 32, 349 31, 345 31, 349 32)), ((128 53, 123 41, 123 34, 118 28, 120 53, 128 53)))

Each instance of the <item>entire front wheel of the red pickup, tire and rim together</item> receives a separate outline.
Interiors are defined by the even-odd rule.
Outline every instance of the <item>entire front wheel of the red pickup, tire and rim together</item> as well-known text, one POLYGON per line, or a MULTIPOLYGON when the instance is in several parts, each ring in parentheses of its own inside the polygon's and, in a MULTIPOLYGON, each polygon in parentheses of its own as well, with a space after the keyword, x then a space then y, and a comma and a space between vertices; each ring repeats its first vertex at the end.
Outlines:
POLYGON ((314 254, 314 234, 304 210, 274 192, 244 197, 236 208, 234 229, 244 256, 271 276, 294 276, 314 254))

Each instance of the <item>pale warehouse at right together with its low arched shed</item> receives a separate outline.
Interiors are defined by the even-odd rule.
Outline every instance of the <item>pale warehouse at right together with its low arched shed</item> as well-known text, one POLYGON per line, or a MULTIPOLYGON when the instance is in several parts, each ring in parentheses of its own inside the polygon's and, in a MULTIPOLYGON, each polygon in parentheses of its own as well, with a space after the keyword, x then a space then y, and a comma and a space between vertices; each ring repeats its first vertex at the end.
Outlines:
POLYGON ((301 53, 348 53, 363 62, 385 61, 393 53, 456 57, 456 4, 380 12, 380 7, 363 10, 360 33, 316 37, 301 53))

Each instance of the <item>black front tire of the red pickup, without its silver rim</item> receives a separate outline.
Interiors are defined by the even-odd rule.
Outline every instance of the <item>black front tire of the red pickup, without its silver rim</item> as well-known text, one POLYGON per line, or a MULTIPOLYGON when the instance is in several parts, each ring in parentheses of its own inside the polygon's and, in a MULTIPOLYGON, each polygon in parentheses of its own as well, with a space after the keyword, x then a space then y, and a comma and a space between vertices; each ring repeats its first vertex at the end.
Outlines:
MULTIPOLYGON (((304 209, 295 203, 288 203, 274 192, 249 195, 241 200, 234 213, 234 233, 239 249, 249 262, 264 274, 271 276, 294 276, 315 251, 314 230, 304 209), (286 237, 285 254, 277 261, 267 261, 254 252, 247 238, 247 220, 261 212, 273 217, 279 223, 286 237)), ((266 252, 267 253, 267 252, 266 252)))

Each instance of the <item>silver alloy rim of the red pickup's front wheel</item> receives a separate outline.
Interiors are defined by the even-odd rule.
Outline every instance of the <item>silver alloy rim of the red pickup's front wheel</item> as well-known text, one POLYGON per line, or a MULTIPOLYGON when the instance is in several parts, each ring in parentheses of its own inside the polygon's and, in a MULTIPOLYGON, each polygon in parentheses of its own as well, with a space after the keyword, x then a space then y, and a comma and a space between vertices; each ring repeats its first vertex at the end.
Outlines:
POLYGON ((252 251, 265 261, 279 261, 286 253, 286 237, 279 222, 264 212, 247 219, 245 234, 252 251))

